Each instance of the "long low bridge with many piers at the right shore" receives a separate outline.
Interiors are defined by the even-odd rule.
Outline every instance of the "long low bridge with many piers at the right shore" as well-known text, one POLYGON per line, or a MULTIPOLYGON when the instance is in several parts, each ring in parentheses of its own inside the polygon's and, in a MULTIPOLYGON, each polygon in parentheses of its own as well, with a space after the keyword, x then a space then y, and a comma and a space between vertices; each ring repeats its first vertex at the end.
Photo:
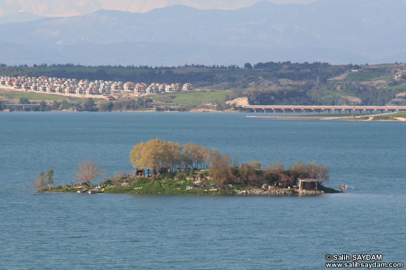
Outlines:
POLYGON ((313 112, 313 113, 383 113, 406 111, 406 106, 304 106, 304 105, 248 105, 253 112, 313 112))

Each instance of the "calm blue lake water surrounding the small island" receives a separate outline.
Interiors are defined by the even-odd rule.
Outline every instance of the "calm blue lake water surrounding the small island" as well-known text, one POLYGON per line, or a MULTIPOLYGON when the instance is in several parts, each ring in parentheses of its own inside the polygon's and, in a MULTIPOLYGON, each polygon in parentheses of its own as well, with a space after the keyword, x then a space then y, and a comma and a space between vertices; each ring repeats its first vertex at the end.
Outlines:
MULTIPOLYGON (((326 254, 406 262, 406 123, 245 118, 247 113, 0 113, 0 269, 323 269, 326 254), (153 138, 216 147, 264 167, 330 166, 321 196, 39 193, 93 158, 131 172, 153 138)), ((263 115, 263 114, 261 114, 263 115)), ((97 181, 96 181, 97 182, 97 181)))

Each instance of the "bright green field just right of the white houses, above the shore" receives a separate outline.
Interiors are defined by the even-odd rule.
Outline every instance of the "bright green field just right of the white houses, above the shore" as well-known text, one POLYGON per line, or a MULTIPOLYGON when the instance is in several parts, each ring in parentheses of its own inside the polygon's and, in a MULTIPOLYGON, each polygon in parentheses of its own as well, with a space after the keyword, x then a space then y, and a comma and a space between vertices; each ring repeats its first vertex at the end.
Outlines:
POLYGON ((174 104, 199 105, 200 103, 213 103, 215 100, 222 101, 228 94, 230 94, 228 91, 168 93, 154 96, 153 99, 168 103, 171 101, 174 104))

